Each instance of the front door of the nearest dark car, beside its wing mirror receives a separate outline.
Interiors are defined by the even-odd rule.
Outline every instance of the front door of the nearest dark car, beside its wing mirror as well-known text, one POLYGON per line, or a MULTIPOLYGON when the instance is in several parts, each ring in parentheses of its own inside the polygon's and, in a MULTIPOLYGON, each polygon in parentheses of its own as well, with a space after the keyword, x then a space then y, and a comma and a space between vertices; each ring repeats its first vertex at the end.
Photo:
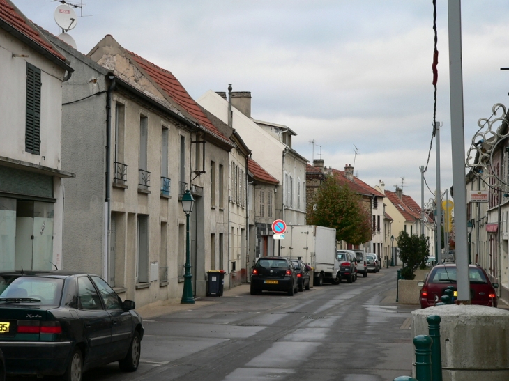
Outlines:
POLYGON ((112 361, 123 358, 129 349, 132 337, 132 315, 129 311, 123 311, 119 295, 116 295, 108 283, 97 276, 91 276, 91 279, 96 283, 102 302, 112 319, 112 345, 110 347, 112 361))

